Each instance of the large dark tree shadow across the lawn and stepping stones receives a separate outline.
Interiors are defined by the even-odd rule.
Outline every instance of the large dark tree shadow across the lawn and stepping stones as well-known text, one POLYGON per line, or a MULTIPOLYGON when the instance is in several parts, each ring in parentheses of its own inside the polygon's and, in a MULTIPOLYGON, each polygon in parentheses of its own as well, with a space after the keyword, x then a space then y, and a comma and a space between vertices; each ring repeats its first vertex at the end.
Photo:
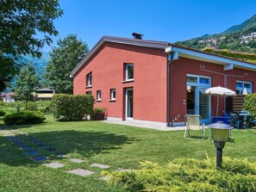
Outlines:
MULTIPOLYGON (((91 158, 97 154, 109 153, 113 150, 122 149, 123 145, 130 145, 135 138, 129 138, 126 135, 119 135, 109 132, 97 131, 53 131, 53 132, 40 132, 30 133, 28 136, 18 135, 29 146, 33 146, 41 151, 43 156, 50 158, 50 160, 58 159, 58 154, 78 153, 84 158, 91 158), (40 145, 34 144, 31 139, 36 139, 43 143, 48 148, 41 148, 40 145), (49 152, 48 149, 53 149, 49 152)), ((22 165, 38 165, 36 164, 26 152, 19 149, 14 143, 11 143, 6 137, 0 137, 0 163, 9 164, 11 166, 22 165), (22 154, 23 153, 23 154, 22 154)))

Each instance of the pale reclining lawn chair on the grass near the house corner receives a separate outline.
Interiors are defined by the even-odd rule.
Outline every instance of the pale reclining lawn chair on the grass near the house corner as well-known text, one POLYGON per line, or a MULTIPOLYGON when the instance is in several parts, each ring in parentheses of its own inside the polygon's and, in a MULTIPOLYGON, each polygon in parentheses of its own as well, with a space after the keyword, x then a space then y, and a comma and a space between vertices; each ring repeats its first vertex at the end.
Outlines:
POLYGON ((186 129, 184 133, 184 138, 187 136, 192 137, 190 130, 202 131, 202 139, 205 139, 205 125, 202 123, 200 115, 185 115, 184 116, 186 129))

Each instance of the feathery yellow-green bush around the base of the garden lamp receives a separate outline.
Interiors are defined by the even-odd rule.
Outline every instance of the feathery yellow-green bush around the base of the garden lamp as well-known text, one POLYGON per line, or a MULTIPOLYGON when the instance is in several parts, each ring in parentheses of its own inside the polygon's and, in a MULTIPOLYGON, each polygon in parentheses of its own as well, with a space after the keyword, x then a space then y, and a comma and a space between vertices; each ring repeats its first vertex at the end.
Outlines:
POLYGON ((109 184, 124 183, 129 191, 256 191, 256 163, 224 158, 176 159, 165 165, 144 162, 140 170, 108 172, 109 184))

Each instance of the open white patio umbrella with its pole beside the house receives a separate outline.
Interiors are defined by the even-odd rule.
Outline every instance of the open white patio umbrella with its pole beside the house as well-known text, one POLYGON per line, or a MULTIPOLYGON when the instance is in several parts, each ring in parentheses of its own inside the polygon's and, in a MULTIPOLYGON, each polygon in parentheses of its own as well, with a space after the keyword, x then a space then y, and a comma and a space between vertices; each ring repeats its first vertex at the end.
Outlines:
POLYGON ((216 116, 218 116, 218 110, 219 110, 219 96, 236 96, 236 93, 233 90, 228 90, 227 88, 220 87, 220 86, 211 87, 205 90, 204 94, 209 96, 218 96, 216 116))

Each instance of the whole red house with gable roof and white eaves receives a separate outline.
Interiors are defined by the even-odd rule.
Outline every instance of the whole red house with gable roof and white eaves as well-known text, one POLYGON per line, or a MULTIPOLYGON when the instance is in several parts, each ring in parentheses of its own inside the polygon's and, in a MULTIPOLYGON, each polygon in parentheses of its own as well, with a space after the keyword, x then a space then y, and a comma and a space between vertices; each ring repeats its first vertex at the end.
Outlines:
MULTIPOLYGON (((138 37, 139 35, 139 37, 138 37)), ((256 65, 168 42, 103 36, 72 70, 75 95, 92 94, 109 119, 170 125, 172 117, 210 122, 216 96, 204 90, 256 90, 256 65)), ((225 102, 220 98, 219 111, 225 102)), ((184 121, 184 120, 180 120, 184 121)))

